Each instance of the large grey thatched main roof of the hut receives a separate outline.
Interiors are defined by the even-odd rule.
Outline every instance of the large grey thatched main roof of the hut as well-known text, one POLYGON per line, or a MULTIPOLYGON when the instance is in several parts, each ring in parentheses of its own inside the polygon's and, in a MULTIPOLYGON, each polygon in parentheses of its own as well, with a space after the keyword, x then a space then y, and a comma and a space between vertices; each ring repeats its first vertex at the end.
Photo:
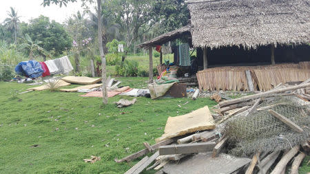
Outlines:
POLYGON ((194 47, 310 43, 309 0, 189 0, 194 47))

